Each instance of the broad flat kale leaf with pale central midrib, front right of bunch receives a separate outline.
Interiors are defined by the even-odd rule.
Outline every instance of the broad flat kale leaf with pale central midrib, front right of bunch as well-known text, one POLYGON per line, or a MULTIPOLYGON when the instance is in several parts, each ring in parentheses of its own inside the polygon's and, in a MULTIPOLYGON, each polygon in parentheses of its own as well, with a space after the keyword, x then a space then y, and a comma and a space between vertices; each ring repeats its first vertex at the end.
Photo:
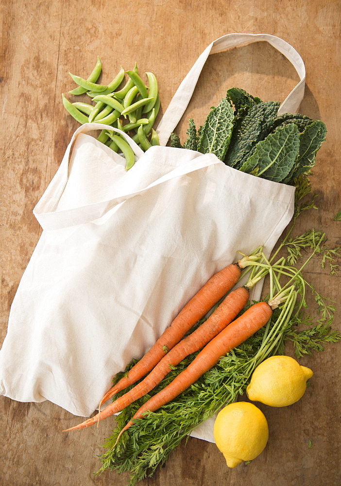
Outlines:
POLYGON ((277 128, 257 143, 254 153, 239 169, 263 179, 281 182, 290 173, 300 147, 300 134, 294 123, 277 128))

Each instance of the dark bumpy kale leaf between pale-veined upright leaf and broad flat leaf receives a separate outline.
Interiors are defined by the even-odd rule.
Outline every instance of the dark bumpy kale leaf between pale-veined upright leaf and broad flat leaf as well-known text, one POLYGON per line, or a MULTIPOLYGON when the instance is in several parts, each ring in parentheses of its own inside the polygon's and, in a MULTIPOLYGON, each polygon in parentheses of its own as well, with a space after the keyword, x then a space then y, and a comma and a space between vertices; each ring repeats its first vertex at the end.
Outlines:
POLYGON ((231 140, 224 158, 226 165, 239 169, 256 149, 256 145, 269 133, 277 116, 280 103, 260 102, 254 105, 240 123, 236 137, 231 140))

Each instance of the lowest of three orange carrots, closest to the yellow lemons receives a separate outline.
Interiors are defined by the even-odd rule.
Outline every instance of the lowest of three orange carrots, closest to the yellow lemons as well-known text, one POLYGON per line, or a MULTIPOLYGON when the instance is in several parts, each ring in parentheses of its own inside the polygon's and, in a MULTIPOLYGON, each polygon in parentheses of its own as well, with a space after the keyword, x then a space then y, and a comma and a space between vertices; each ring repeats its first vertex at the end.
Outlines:
POLYGON ((120 431, 117 441, 119 440, 120 435, 133 425, 134 419, 142 418, 143 414, 148 411, 154 412, 162 405, 165 405, 170 402, 170 400, 180 395, 180 393, 196 382, 206 371, 217 364, 222 356, 234 347, 239 346, 257 330, 262 328, 268 322, 272 314, 272 308, 266 302, 258 302, 251 306, 214 337, 202 351, 200 351, 192 363, 179 373, 170 384, 147 400, 137 410, 132 419, 120 431))

